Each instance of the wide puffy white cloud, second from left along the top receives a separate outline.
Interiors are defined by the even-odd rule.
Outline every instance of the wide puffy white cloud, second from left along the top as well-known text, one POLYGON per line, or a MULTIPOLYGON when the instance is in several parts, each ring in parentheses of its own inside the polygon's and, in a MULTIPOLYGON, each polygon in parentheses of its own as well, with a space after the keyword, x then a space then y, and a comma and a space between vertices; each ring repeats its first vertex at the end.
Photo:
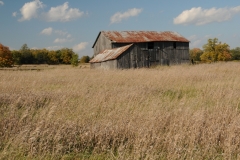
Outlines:
POLYGON ((43 19, 49 22, 67 22, 83 16, 84 12, 81 12, 76 8, 69 8, 68 2, 57 7, 51 7, 47 13, 43 13, 43 19))

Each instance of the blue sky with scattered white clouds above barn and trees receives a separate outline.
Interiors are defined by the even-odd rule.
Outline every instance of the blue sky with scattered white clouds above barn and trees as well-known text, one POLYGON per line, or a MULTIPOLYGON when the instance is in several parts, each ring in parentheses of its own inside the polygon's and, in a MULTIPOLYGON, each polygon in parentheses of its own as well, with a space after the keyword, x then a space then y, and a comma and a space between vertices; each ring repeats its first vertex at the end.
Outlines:
POLYGON ((101 30, 176 31, 202 48, 218 38, 240 47, 237 0, 0 0, 0 43, 10 49, 72 48, 93 55, 101 30))

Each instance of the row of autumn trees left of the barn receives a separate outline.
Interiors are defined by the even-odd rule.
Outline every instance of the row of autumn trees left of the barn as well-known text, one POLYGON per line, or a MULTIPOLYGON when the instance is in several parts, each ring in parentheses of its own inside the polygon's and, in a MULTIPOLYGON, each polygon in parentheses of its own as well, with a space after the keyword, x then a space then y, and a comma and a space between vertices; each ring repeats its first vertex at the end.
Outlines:
MULTIPOLYGON (((80 62, 88 63, 89 60, 89 56, 83 56, 80 62)), ((77 66, 78 63, 78 54, 69 48, 60 50, 30 49, 27 44, 24 44, 19 50, 10 51, 7 46, 0 44, 0 67, 22 64, 71 64, 77 66)))

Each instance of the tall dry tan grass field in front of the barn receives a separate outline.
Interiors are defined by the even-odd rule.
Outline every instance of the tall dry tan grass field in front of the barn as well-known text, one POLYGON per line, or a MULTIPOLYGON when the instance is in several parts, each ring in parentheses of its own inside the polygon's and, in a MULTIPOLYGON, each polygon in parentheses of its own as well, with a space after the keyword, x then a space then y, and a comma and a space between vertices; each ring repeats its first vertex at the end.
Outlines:
POLYGON ((239 70, 0 70, 0 159, 240 159, 239 70))

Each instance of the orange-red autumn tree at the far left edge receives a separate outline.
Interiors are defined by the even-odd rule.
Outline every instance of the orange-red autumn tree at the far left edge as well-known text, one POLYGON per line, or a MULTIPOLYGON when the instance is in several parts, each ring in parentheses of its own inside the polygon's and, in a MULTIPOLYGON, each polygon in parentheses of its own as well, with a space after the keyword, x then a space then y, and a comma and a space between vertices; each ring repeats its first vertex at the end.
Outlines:
POLYGON ((13 57, 7 46, 0 43, 0 67, 12 67, 13 57))

